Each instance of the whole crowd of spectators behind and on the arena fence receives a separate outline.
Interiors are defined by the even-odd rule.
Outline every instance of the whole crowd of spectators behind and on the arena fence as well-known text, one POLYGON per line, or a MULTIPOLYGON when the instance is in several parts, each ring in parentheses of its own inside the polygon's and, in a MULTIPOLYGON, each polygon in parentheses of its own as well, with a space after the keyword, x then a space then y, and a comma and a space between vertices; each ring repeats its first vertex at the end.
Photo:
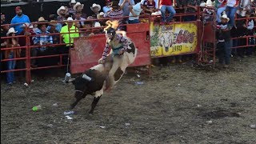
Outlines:
MULTIPOLYGON (((210 8, 214 6, 216 6, 217 10, 216 20, 218 26, 221 27, 218 32, 219 34, 225 33, 224 38, 218 37, 220 43, 223 41, 231 42, 231 37, 255 34, 254 24, 256 20, 255 18, 251 18, 252 16, 255 16, 255 10, 252 8, 256 5, 255 1, 218 0, 218 3, 215 5, 210 0, 207 2, 201 2, 201 0, 176 0, 176 3, 173 3, 172 0, 142 0, 138 3, 135 2, 134 0, 106 0, 106 6, 100 6, 94 3, 90 6, 90 10, 92 10, 93 14, 86 15, 83 12, 84 4, 71 0, 69 6, 60 6, 57 9, 56 14, 50 14, 49 18, 38 18, 38 24, 32 24, 33 22, 30 22, 30 18, 22 13, 22 7, 17 6, 15 8, 16 15, 10 22, 11 26, 2 26, 7 24, 7 22, 5 21, 5 14, 1 13, 1 37, 24 35, 30 36, 29 40, 27 40, 26 37, 1 38, 1 48, 30 45, 33 46, 30 51, 31 57, 47 54, 67 54, 70 47, 73 46, 74 38, 91 34, 102 34, 102 29, 94 30, 91 28, 104 26, 106 22, 104 18, 118 18, 120 24, 134 24, 140 22, 139 16, 141 14, 157 14, 162 17, 160 25, 165 25, 175 21, 195 21, 197 19, 196 12, 198 10, 202 10, 206 14, 212 15, 214 11, 210 8), (198 9, 200 6, 203 6, 204 8, 198 9), (186 13, 191 15, 179 19, 175 18, 176 13, 186 13), (236 13, 238 18, 247 19, 235 22, 234 18, 236 13), (88 21, 90 19, 94 19, 94 21, 88 21), (224 19, 226 20, 225 22, 223 21, 224 19), (226 29, 225 26, 229 28, 226 29), (234 34, 230 32, 231 30, 233 30, 234 34), (57 46, 62 43, 62 46, 57 46), (56 46, 53 46, 52 44, 56 44, 56 46)), ((215 18, 210 18, 210 16, 208 16, 208 18, 204 18, 203 20, 214 21, 214 19, 215 18)), ((125 28, 120 27, 120 29, 125 28)), ((249 43, 251 45, 254 44, 254 42, 254 38, 249 38, 249 43)), ((237 39, 232 42, 233 46, 242 46, 245 43, 246 38, 237 39)), ((224 44, 220 46, 230 47, 231 45, 224 44)), ((252 51, 252 46, 249 49, 239 49, 238 55, 243 58, 243 54, 250 55, 252 54, 252 51)), ((230 52, 223 53, 229 54, 230 52)), ((26 57, 25 49, 1 50, 1 60, 3 58, 11 59, 20 57, 26 57)), ((181 57, 177 58, 179 62, 182 61, 181 57)), ((14 70, 16 65, 15 62, 15 60, 6 62, 6 70, 14 70)), ((49 64, 49 62, 46 62, 46 60, 40 61, 40 58, 32 58, 31 67, 36 68, 38 66, 49 66, 53 64, 49 64)), ((67 62, 67 58, 63 58, 62 63, 54 63, 61 65, 66 64, 67 62)), ((18 68, 25 68, 24 61, 19 63, 20 64, 17 66, 18 68)), ((227 62, 227 64, 229 64, 229 62, 227 62)), ((10 85, 14 82, 14 74, 12 72, 7 72, 7 82, 10 85)))

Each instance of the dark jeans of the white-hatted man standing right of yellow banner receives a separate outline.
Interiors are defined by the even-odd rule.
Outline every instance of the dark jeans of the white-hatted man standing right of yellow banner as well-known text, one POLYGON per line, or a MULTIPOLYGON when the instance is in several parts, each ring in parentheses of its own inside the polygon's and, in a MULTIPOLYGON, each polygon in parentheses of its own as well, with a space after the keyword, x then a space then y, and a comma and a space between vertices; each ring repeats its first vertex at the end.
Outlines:
POLYGON ((218 42, 218 62, 226 65, 230 65, 231 55, 231 41, 218 42))

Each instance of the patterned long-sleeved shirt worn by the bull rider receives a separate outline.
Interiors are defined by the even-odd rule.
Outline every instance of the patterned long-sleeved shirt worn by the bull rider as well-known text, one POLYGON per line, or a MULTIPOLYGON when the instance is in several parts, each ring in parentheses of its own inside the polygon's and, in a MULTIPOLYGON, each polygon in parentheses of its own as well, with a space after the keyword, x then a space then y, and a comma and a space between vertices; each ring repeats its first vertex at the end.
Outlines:
MULTIPOLYGON (((120 50, 122 50, 123 52, 125 52, 127 49, 128 49, 128 39, 123 37, 121 34, 115 34, 115 37, 116 37, 116 40, 119 42, 119 43, 122 43, 123 46, 120 50)), ((115 51, 117 52, 118 54, 118 51, 119 51, 119 48, 117 48, 116 50, 113 48, 113 46, 111 46, 112 49, 113 49, 113 52, 115 54, 115 51), (118 50, 118 51, 117 51, 118 50)), ((103 50, 103 54, 102 54, 102 60, 105 61, 106 59, 106 55, 109 53, 109 50, 110 50, 110 43, 106 42, 106 46, 103 50)))

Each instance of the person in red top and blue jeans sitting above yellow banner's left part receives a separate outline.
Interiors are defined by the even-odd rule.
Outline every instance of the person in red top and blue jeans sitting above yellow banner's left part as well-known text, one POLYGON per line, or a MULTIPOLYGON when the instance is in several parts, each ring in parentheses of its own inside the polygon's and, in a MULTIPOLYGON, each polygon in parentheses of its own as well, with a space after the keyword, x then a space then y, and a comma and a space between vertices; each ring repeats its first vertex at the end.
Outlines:
POLYGON ((162 21, 160 24, 164 24, 165 22, 174 22, 173 17, 176 14, 176 11, 174 10, 172 0, 158 0, 158 6, 161 7, 162 14, 162 21), (166 18, 166 10, 170 13, 168 18, 166 18))

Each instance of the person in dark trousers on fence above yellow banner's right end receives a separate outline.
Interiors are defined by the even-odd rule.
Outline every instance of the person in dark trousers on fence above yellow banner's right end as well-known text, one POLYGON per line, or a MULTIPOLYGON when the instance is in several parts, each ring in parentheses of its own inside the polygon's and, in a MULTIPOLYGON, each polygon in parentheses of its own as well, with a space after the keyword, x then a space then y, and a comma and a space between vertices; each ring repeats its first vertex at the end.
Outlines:
MULTIPOLYGON (((200 5, 200 0, 191 0, 187 3, 187 9, 185 13, 195 13, 198 10, 198 6, 200 5)), ((184 22, 195 21, 197 19, 196 15, 188 15, 184 17, 184 22)))

